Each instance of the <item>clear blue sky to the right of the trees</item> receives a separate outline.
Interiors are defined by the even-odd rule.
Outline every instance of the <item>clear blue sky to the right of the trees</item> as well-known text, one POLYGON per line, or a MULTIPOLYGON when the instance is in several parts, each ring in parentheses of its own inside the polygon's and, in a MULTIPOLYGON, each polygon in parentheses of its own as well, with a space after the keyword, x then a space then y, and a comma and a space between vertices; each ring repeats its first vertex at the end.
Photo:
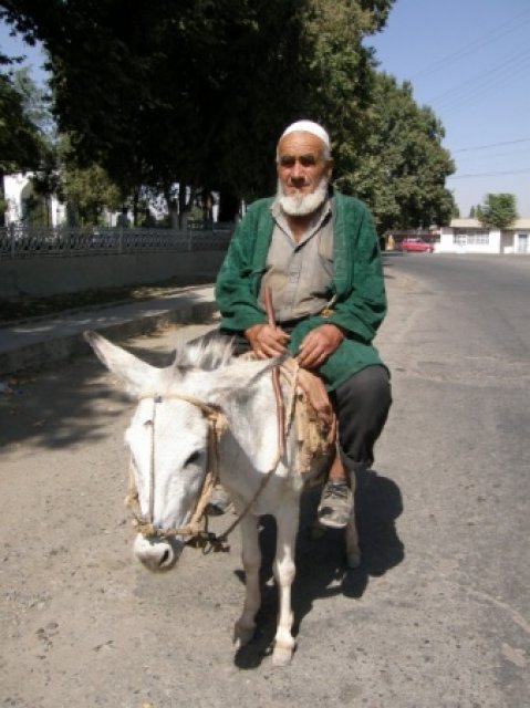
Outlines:
POLYGON ((530 0, 396 0, 365 44, 441 121, 460 216, 508 192, 530 218, 530 0))

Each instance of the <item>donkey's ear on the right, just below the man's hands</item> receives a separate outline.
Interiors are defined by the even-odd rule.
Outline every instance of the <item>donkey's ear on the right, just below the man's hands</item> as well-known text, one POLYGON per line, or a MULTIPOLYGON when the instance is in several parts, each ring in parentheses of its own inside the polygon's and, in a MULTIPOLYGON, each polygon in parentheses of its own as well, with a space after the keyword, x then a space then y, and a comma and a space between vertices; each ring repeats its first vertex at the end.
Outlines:
POLYGON ((222 406, 227 398, 247 396, 248 392, 259 379, 280 366, 290 354, 282 354, 274 358, 249 362, 239 360, 230 366, 226 366, 212 373, 211 388, 208 392, 208 400, 222 406))

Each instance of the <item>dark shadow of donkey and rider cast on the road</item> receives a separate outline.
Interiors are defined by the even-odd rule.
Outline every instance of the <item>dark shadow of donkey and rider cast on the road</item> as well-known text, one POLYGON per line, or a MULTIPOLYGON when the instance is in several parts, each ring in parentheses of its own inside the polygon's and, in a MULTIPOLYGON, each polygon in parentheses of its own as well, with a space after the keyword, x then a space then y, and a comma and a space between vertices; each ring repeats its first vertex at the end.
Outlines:
MULTIPOLYGON (((312 533, 320 488, 308 490, 302 497, 300 531, 297 543, 297 577, 292 590, 294 612, 293 635, 300 631, 316 600, 337 594, 360 598, 367 589, 371 576, 378 577, 398 565, 405 558, 405 549, 397 535, 396 519, 403 512, 403 501, 397 485, 375 471, 366 472, 357 481, 355 508, 362 552, 360 568, 345 565, 343 531, 326 530, 322 538, 312 533)), ((263 554, 261 568, 262 603, 258 613, 252 642, 239 649, 235 663, 239 668, 258 667, 272 650, 276 634, 278 591, 272 582, 276 522, 264 517, 261 522, 260 543, 263 554)), ((241 582, 245 575, 238 572, 241 582)))

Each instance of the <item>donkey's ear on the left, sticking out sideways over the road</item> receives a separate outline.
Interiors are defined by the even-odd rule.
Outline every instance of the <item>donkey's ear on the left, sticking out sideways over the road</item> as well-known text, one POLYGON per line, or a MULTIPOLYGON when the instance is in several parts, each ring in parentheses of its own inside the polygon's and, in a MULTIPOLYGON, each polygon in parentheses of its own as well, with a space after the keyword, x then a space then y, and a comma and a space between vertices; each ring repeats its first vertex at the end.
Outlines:
POLYGON ((125 384, 127 393, 138 396, 145 392, 158 391, 165 369, 143 362, 97 332, 84 332, 83 336, 100 361, 125 384))

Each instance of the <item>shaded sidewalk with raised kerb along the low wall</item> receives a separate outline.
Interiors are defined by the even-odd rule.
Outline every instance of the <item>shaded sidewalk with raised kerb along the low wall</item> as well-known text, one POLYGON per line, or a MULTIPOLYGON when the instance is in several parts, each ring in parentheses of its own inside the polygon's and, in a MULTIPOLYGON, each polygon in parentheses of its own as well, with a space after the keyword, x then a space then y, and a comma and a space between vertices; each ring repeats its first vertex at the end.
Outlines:
POLYGON ((153 332, 166 324, 193 324, 216 312, 214 287, 179 288, 172 294, 84 308, 0 326, 0 376, 89 353, 83 339, 94 330, 113 340, 153 332))

